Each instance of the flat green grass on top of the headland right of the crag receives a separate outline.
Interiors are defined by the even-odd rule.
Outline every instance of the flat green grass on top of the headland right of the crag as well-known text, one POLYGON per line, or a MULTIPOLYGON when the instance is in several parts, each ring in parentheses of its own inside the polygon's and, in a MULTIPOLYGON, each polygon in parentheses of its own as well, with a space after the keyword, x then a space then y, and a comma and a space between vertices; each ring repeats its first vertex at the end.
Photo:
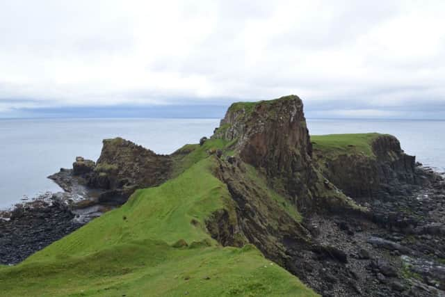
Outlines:
POLYGON ((314 151, 319 150, 325 155, 363 154, 374 158, 371 143, 381 135, 378 133, 319 135, 311 136, 311 142, 314 151))

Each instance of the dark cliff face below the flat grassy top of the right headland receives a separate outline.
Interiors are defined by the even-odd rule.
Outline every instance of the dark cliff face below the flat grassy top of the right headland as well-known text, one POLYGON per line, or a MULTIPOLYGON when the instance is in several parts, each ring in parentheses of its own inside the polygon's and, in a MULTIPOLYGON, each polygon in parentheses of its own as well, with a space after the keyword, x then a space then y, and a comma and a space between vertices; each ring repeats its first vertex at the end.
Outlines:
MULTIPOLYGON (((323 138, 318 139, 323 141, 323 138)), ((353 145, 335 153, 326 147, 316 147, 314 159, 320 164, 323 175, 353 198, 403 193, 407 184, 419 182, 415 157, 401 150, 397 138, 375 134, 369 140, 369 147, 371 154, 357 152, 353 145)))

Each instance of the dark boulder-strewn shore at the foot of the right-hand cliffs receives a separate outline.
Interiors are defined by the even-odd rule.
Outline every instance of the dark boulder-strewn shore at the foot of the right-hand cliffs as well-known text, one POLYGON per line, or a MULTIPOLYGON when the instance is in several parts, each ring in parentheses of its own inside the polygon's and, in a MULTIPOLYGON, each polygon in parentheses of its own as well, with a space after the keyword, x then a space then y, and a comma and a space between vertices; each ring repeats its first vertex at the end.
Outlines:
POLYGON ((314 215, 305 225, 319 252, 289 244, 289 267, 323 296, 445 296, 445 182, 373 200, 373 218, 314 215))

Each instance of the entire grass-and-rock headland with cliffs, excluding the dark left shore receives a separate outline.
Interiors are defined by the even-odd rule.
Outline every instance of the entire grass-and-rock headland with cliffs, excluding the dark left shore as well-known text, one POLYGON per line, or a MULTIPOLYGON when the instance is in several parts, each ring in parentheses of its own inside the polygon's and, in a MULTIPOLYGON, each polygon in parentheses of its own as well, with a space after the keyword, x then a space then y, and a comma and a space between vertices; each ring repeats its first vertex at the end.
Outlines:
POLYGON ((106 214, 0 267, 9 296, 444 294, 444 180, 394 136, 311 136, 296 95, 232 104, 170 155, 106 140, 51 178, 106 214))

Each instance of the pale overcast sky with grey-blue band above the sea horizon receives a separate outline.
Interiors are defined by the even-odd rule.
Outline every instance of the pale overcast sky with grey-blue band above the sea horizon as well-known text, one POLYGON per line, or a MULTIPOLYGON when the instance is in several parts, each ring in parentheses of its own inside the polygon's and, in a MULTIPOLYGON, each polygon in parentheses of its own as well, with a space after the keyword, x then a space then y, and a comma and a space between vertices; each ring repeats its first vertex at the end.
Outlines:
POLYGON ((295 94, 314 118, 445 119, 444 11, 443 0, 0 0, 0 118, 206 118, 295 94))

